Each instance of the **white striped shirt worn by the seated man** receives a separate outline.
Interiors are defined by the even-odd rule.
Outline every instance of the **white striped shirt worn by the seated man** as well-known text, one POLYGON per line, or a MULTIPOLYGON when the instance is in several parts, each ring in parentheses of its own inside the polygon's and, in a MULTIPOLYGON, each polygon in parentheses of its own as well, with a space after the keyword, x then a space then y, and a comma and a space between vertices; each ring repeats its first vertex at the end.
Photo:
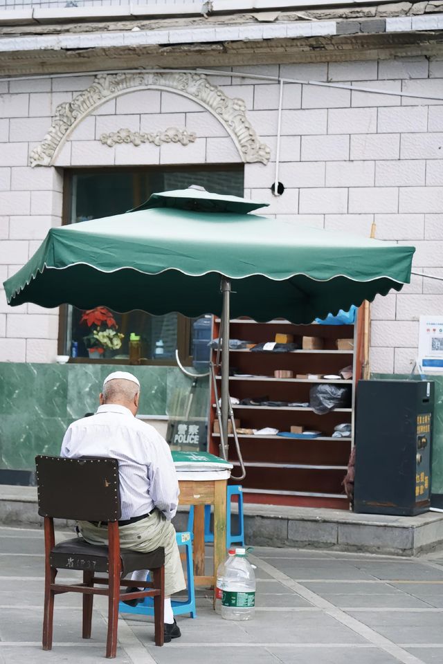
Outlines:
POLYGON ((169 445, 125 406, 105 404, 95 415, 73 422, 64 434, 60 456, 118 460, 121 519, 147 514, 154 507, 167 519, 177 512, 179 482, 169 445))

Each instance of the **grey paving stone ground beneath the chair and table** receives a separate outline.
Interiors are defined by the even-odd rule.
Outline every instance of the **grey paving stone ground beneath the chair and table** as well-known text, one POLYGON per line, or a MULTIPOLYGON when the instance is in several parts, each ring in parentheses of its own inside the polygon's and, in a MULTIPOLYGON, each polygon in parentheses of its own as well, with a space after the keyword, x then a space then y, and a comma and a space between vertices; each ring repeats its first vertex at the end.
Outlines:
MULTIPOLYGON (((57 538, 72 537, 60 531, 57 538)), ((82 640, 81 598, 55 598, 54 643, 41 649, 41 530, 0 527, 0 664, 92 664, 105 656, 106 598, 94 598, 82 640)), ((210 565, 211 551, 208 548, 210 565)), ((441 664, 443 551, 419 558, 257 547, 255 619, 217 616, 198 591, 195 620, 163 648, 152 621, 120 614, 118 664, 441 664)), ((60 571, 60 579, 80 573, 60 571)))

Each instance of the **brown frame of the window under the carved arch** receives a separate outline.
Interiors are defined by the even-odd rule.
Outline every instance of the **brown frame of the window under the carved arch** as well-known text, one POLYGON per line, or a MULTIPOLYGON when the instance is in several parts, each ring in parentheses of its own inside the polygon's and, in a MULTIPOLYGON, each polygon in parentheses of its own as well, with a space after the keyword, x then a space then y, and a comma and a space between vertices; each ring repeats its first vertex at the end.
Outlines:
MULTIPOLYGON (((175 165, 161 165, 159 166, 134 166, 134 167, 125 167, 125 166, 98 166, 98 167, 85 167, 85 168, 66 168, 63 173, 63 199, 62 199, 62 226, 71 225, 71 194, 72 194, 72 182, 73 176, 78 174, 93 174, 95 172, 132 172, 134 174, 143 174, 147 170, 159 169, 166 170, 178 170, 181 168, 186 168, 188 170, 198 171, 204 169, 206 171, 230 171, 237 170, 239 166, 243 167, 243 164, 175 164, 175 165)), ((144 203, 145 199, 141 197, 140 190, 140 181, 135 179, 134 181, 134 190, 138 189, 136 196, 134 196, 134 207, 144 203)), ((68 306, 69 304, 61 304, 59 307, 59 318, 58 318, 58 338, 57 338, 57 353, 59 355, 64 355, 66 353, 66 335, 67 335, 67 324, 68 324, 68 306)), ((143 310, 141 310, 143 311, 143 310)), ((148 313, 148 312, 145 312, 148 313)), ((149 315, 149 313, 148 313, 149 315)), ((186 316, 183 316, 181 313, 177 314, 177 350, 179 351, 179 358, 181 364, 184 367, 192 367, 192 355, 190 355, 190 342, 191 342, 191 320, 186 316)), ((71 364, 94 364, 94 365, 129 365, 129 358, 116 360, 114 358, 69 358, 71 364)), ((140 365, 154 365, 156 367, 174 367, 176 366, 175 358, 142 358, 139 362, 140 365)))

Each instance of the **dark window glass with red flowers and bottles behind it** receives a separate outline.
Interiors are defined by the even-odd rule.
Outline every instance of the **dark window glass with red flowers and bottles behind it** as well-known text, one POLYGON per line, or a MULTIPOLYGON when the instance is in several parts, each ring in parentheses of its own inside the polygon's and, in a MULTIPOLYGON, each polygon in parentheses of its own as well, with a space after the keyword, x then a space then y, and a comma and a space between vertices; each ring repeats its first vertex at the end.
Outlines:
MULTIPOLYGON (((98 219, 131 210, 154 192, 185 189, 192 184, 217 194, 243 196, 243 167, 183 167, 163 169, 97 169, 72 172, 66 223, 98 219)), ((173 362, 175 350, 182 359, 193 358, 204 368, 209 353, 210 319, 187 320, 177 313, 152 316, 143 311, 120 314, 104 308, 84 312, 73 306, 65 311, 63 352, 78 358, 125 362, 138 342, 137 353, 146 360, 173 362), (184 356, 184 357, 183 357, 184 356)))

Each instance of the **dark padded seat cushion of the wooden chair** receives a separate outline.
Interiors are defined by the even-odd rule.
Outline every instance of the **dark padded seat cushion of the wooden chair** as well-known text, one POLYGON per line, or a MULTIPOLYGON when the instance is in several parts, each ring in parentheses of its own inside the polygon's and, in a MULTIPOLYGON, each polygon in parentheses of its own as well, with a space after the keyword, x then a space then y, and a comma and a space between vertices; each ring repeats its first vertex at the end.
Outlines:
MULTIPOLYGON (((158 569, 165 564, 163 546, 150 553, 139 553, 127 548, 120 548, 122 576, 137 569, 158 569)), ((81 537, 55 544, 51 549, 51 567, 58 569, 80 569, 94 572, 109 572, 109 553, 107 546, 89 544, 81 537)))

